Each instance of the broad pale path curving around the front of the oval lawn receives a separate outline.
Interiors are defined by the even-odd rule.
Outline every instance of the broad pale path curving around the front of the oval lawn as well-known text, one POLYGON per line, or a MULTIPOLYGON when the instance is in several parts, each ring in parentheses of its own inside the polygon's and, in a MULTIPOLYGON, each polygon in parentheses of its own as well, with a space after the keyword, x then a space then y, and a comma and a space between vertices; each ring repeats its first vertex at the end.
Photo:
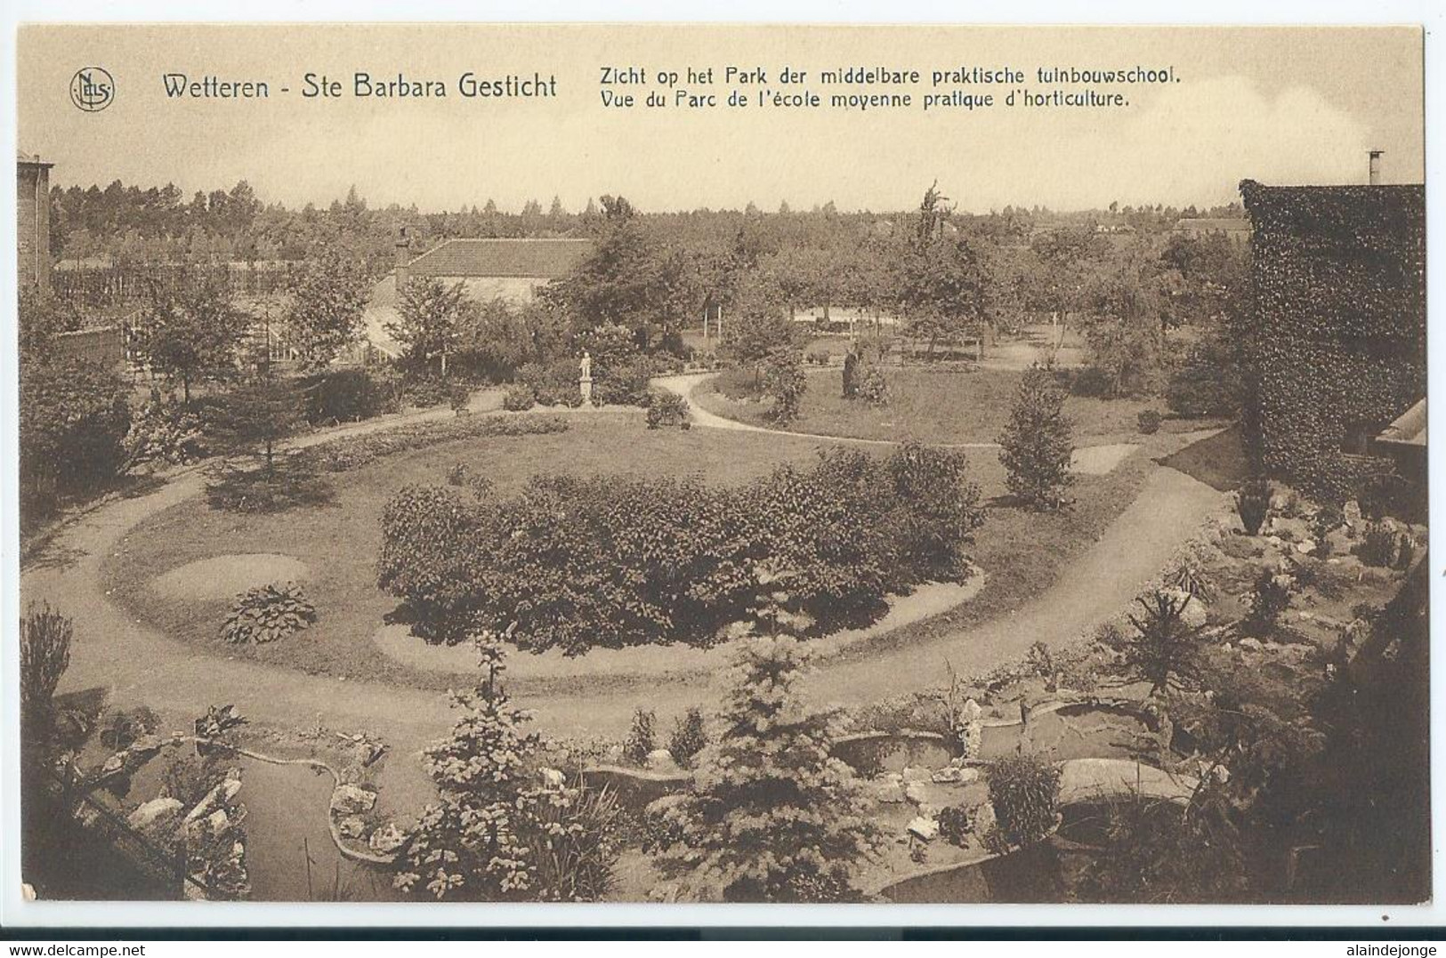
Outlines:
MULTIPOLYGON (((388 425, 395 422, 362 423, 308 442, 388 425)), ((425 795, 415 792, 427 782, 421 763, 411 756, 451 725, 447 696, 198 653, 130 620, 106 595, 103 559, 142 520, 201 490, 201 475, 191 470, 155 491, 93 509, 61 529, 45 553, 22 571, 23 601, 49 603, 75 620, 71 665, 59 691, 101 688, 113 705, 146 704, 178 722, 204 714, 210 705, 230 702, 265 724, 364 728, 393 747, 396 760, 386 769, 393 787, 425 795)), ((1069 642, 1124 608, 1220 497, 1183 472, 1157 468, 1105 535, 1031 603, 1009 616, 917 644, 844 652, 821 663, 804 688, 820 701, 876 701, 941 685, 946 659, 967 675, 1015 660, 1037 640, 1069 642)), ((697 675, 641 688, 635 682, 587 682, 568 692, 518 695, 518 704, 535 709, 538 725, 548 733, 617 737, 639 704, 656 709, 665 722, 688 705, 711 705, 717 701, 719 689, 711 688, 717 678, 697 675)))

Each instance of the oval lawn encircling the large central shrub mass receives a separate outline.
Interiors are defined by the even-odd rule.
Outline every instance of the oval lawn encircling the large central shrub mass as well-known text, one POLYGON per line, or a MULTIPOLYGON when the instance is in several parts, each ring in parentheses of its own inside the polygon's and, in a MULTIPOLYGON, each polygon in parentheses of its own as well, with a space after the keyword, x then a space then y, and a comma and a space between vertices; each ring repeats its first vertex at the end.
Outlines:
MULTIPOLYGON (((383 655, 373 642, 383 617, 398 604, 376 587, 376 558, 382 509, 402 486, 444 483, 447 470, 458 462, 473 475, 493 480, 503 494, 542 471, 698 475, 709 483, 743 483, 781 462, 808 464, 818 446, 813 439, 720 429, 648 431, 641 413, 580 415, 568 432, 450 442, 334 475, 337 496, 325 507, 252 516, 217 512, 195 497, 137 526, 107 559, 103 577, 111 597, 134 618, 214 655, 317 675, 445 689, 455 685, 454 675, 414 669, 383 655), (281 642, 226 644, 217 630, 228 598, 168 598, 150 587, 158 577, 195 561, 262 552, 295 556, 309 566, 304 588, 320 620, 281 642)), ((970 478, 985 499, 1002 496, 998 457, 975 451, 967 458, 970 478)), ((1142 451, 1109 475, 1082 477, 1073 490, 1076 506, 1060 514, 992 503, 973 549, 988 575, 980 594, 946 616, 889 633, 884 644, 966 627, 1038 595, 1134 500, 1151 468, 1142 451)), ((667 652, 659 649, 659 655, 667 652)))

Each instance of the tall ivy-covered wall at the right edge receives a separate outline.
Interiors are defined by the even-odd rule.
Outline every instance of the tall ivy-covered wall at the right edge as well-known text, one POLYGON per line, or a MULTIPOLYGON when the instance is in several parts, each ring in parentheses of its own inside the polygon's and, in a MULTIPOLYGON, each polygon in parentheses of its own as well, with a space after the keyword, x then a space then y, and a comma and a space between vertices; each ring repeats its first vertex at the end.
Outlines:
POLYGON ((1264 468, 1355 494, 1348 432, 1375 435, 1426 394, 1423 186, 1241 184, 1254 224, 1246 344, 1264 468))

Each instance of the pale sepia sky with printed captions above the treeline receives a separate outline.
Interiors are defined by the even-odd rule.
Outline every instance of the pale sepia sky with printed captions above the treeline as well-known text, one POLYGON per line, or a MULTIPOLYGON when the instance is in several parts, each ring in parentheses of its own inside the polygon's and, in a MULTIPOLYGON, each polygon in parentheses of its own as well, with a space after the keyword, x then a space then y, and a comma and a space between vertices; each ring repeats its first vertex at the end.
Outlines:
MULTIPOLYGON (((25 26, 17 56, 19 149, 54 162, 52 184, 187 194, 250 182, 268 202, 330 204, 351 185, 373 207, 424 211, 495 199, 519 210, 560 197, 580 210, 622 194, 648 210, 914 207, 930 182, 960 210, 1213 205, 1236 184, 1365 182, 1384 150, 1384 182, 1423 179, 1421 35, 1414 27, 756 27, 528 25, 25 26), (1108 87, 1129 104, 1005 107, 1011 90, 1053 90, 1035 68, 1173 66, 1177 82, 1108 87), (713 68, 710 88, 860 92, 823 69, 918 69, 908 90, 992 92, 966 111, 677 107, 602 103, 602 68, 713 68), (727 84, 727 65, 765 84, 727 84), (931 87, 934 69, 1011 66, 1024 84, 931 87), (80 68, 103 66, 101 111, 69 95, 80 68), (784 85, 784 68, 807 71, 784 85), (341 79, 435 79, 445 98, 304 98, 308 72, 341 79), (464 98, 458 77, 557 77, 554 98, 464 98), (266 81, 266 100, 168 98, 165 74, 266 81), (289 92, 279 92, 286 87, 289 92)), ((1079 91, 1080 88, 1071 88, 1079 91)), ((878 88, 875 92, 904 92, 878 88)))

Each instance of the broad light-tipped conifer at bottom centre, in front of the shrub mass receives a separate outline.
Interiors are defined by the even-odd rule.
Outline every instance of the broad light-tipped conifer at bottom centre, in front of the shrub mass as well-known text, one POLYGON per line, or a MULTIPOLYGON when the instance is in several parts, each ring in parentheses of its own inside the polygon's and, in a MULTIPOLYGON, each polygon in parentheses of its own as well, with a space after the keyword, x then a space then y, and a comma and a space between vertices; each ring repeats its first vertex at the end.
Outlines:
POLYGON ((703 897, 857 897, 850 866, 876 847, 876 827, 853 772, 830 754, 837 714, 795 689, 801 665, 792 636, 739 649, 720 737, 698 753, 687 799, 665 812, 659 860, 703 897))

